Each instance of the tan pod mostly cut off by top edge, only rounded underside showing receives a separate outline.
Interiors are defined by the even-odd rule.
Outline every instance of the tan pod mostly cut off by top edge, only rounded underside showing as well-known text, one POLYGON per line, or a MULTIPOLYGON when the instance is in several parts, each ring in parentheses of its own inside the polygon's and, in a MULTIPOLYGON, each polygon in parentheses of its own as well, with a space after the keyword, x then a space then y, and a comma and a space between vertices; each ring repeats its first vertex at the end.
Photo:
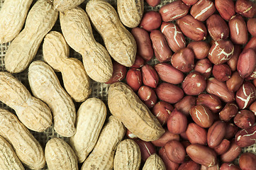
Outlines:
POLYGON ((84 0, 53 0, 52 5, 57 11, 67 11, 83 3, 84 0))

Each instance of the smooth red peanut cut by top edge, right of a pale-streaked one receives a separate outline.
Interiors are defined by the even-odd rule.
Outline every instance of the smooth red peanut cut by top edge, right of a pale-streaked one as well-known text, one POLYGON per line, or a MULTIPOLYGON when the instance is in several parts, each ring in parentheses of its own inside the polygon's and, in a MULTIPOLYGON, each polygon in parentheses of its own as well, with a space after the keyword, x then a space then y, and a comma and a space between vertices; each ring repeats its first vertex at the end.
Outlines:
POLYGON ((235 15, 235 4, 233 0, 215 0, 215 6, 221 17, 226 21, 229 21, 235 15))

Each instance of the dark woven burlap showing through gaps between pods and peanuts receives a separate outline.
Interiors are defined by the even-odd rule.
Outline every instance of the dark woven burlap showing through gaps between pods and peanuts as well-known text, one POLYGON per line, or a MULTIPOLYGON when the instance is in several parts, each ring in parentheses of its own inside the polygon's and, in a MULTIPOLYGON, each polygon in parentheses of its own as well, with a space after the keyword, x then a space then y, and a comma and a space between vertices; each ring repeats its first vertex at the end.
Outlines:
MULTIPOLYGON (((87 1, 89 1, 89 0, 84 1, 84 3, 80 5, 83 9, 85 9, 87 1)), ((106 0, 106 1, 108 1, 114 8, 116 8, 116 0, 106 0)), ((171 1, 175 1, 175 0, 162 0, 161 3, 155 7, 148 6, 148 4, 145 3, 145 11, 158 11, 161 6, 164 6, 165 4, 169 4, 171 1)), ((4 0, 0 0, 0 10, 1 10, 1 6, 3 4, 4 4, 4 0)), ((33 1, 33 4, 35 4, 35 0, 33 1)), ((30 6, 30 8, 33 6, 33 4, 30 6)), ((61 32, 59 20, 57 20, 57 23, 52 28, 52 30, 61 32)), ((103 42, 101 36, 98 33, 96 33, 95 30, 94 30, 94 37, 95 37, 96 41, 98 41, 104 45, 104 42, 103 42)), ((189 41, 190 40, 187 40, 187 42, 189 42, 189 41)), ((11 42, 0 44, 0 71, 6 71, 6 69, 4 67, 4 56, 5 56, 6 50, 8 50, 8 47, 10 44, 11 44, 11 42)), ((70 48, 69 57, 75 57, 82 61, 82 56, 79 55, 79 53, 72 50, 71 48, 70 48)), ((34 61, 35 60, 43 60, 42 44, 40 45, 37 55, 35 56, 34 61)), ((156 64, 156 63, 157 63, 156 59, 153 59, 149 62, 149 64, 156 64)), ((28 69, 26 69, 24 72, 21 72, 19 74, 14 74, 14 76, 17 79, 19 79, 26 86, 26 88, 28 90, 30 90, 30 86, 28 84, 28 69)), ((61 74, 57 73, 57 76, 59 77, 60 82, 62 83, 61 74)), ((100 98, 102 101, 104 101, 104 103, 107 103, 108 86, 109 86, 108 84, 101 84, 101 83, 91 80, 92 91, 91 91, 90 97, 100 98)), ((79 108, 79 105, 80 105, 80 103, 76 103, 76 108, 79 108)), ((13 111, 11 108, 6 106, 4 103, 1 103, 1 101, 0 101, 0 107, 9 110, 12 113, 15 113, 15 111, 13 111)), ((30 132, 35 136, 35 138, 40 142, 40 144, 43 147, 45 147, 46 142, 48 142, 48 140, 50 140, 52 137, 60 137, 60 138, 64 139, 65 141, 69 142, 69 139, 67 137, 62 137, 62 136, 58 135, 55 132, 55 130, 53 130, 53 127, 50 127, 50 128, 48 128, 48 130, 45 130, 45 132, 41 132, 41 133, 34 132, 34 131, 30 131, 30 132)), ((251 147, 243 148, 243 152, 255 152, 256 153, 256 145, 252 145, 251 147)), ((238 164, 238 159, 235 160, 235 164, 238 164)), ((48 169, 47 166, 45 166, 44 169, 45 170, 48 169)))

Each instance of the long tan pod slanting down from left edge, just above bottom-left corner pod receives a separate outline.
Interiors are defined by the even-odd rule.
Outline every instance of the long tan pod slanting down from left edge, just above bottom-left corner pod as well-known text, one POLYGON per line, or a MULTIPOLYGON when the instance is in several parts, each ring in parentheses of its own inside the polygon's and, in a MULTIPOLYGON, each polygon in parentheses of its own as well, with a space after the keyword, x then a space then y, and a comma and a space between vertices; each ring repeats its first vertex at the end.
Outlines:
POLYGON ((1 108, 0 135, 12 145, 18 159, 28 168, 42 169, 45 166, 45 154, 39 142, 13 113, 1 108))

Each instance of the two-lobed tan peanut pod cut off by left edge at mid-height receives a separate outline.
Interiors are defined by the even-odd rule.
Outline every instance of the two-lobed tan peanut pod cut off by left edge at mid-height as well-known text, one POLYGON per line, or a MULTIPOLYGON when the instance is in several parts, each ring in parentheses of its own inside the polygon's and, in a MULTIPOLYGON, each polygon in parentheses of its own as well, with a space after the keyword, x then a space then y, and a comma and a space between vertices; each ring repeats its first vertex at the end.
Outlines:
POLYGON ((28 129, 43 132, 52 125, 50 108, 31 96, 26 87, 9 72, 0 72, 0 101, 16 112, 28 129))

